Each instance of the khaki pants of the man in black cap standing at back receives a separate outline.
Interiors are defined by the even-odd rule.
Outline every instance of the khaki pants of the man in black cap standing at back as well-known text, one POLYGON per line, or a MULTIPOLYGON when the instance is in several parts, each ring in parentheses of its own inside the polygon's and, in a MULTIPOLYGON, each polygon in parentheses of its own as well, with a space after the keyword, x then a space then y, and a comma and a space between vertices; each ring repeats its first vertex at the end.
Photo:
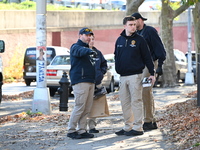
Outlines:
MULTIPOLYGON (((154 62, 155 68, 157 68, 157 61, 154 62)), ((143 70, 142 78, 149 77, 149 71, 147 67, 143 70)), ((155 122, 155 106, 153 97, 153 86, 143 88, 142 99, 144 103, 144 122, 155 122)))

